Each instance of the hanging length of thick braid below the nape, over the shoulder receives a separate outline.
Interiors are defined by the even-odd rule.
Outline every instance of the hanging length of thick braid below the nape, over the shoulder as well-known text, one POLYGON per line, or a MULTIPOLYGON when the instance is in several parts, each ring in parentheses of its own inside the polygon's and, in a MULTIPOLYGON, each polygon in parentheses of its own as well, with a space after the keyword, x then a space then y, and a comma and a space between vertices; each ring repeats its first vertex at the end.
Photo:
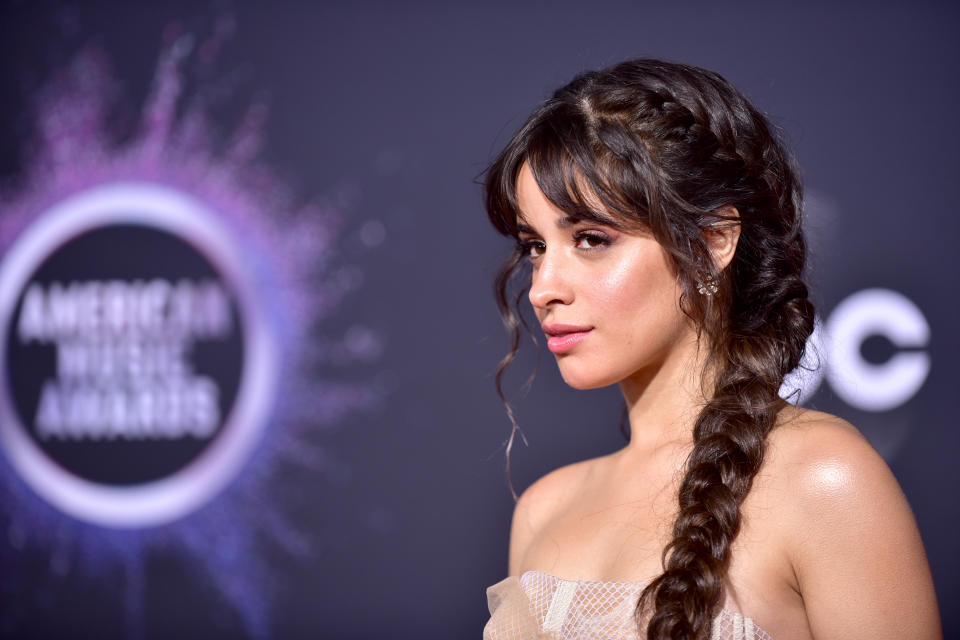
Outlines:
MULTIPOLYGON (((803 318, 812 315, 812 309, 803 309, 808 305, 806 300, 787 303, 784 313, 803 324, 803 318)), ((694 427, 665 571, 641 599, 652 597, 655 605, 648 623, 650 639, 699 638, 709 629, 721 604, 730 547, 740 529, 740 505, 783 406, 769 365, 799 362, 802 345, 784 345, 769 334, 745 335, 731 341, 731 353, 694 427)))

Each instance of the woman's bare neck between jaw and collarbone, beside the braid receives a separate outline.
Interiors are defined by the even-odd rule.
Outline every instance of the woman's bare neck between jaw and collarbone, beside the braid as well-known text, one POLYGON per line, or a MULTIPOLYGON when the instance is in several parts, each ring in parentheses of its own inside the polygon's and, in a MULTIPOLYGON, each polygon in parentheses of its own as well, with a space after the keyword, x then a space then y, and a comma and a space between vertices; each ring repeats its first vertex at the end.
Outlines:
POLYGON ((702 381, 707 347, 690 333, 656 367, 636 372, 620 383, 630 419, 627 456, 646 455, 665 445, 687 446, 707 398, 702 381))

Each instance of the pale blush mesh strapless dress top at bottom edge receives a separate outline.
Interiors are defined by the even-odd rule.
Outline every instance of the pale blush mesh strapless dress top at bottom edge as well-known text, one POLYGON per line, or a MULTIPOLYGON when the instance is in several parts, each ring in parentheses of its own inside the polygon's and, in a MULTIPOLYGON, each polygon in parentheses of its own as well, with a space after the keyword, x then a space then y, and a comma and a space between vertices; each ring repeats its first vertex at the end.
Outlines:
MULTIPOLYGON (((490 620, 483 640, 642 640, 634 609, 636 582, 563 580, 528 571, 487 588, 490 620)), ((772 640, 742 614, 723 610, 711 640, 772 640)))

